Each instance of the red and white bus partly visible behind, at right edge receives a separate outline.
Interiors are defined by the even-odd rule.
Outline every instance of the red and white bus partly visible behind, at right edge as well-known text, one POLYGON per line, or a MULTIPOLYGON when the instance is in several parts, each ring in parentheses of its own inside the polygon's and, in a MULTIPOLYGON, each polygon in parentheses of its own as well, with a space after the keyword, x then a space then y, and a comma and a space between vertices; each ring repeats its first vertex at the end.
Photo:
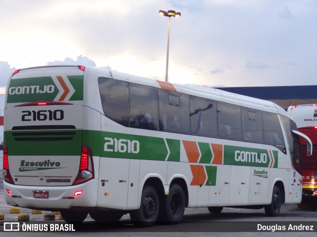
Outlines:
MULTIPOLYGON (((308 157, 305 153, 302 155, 301 173, 303 197, 307 201, 312 199, 315 202, 317 198, 317 104, 290 106, 287 112, 293 117, 298 130, 307 135, 313 143, 312 156, 308 157)), ((301 147, 303 151, 307 149, 304 140, 301 140, 301 147)))

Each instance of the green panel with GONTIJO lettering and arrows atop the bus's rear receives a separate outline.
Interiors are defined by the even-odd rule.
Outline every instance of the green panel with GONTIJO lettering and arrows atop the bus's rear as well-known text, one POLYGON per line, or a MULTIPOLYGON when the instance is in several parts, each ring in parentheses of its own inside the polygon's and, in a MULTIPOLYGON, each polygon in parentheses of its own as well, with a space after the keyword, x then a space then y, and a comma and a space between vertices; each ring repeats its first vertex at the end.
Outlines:
POLYGON ((11 79, 8 103, 83 100, 83 76, 11 79))

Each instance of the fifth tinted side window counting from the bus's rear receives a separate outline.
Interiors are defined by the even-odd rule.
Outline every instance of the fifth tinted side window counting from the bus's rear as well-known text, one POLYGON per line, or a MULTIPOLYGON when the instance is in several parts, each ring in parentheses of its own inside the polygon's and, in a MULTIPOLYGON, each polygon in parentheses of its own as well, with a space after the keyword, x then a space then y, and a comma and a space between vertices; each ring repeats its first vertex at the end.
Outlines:
POLYGON ((219 138, 242 140, 240 106, 217 102, 219 138))

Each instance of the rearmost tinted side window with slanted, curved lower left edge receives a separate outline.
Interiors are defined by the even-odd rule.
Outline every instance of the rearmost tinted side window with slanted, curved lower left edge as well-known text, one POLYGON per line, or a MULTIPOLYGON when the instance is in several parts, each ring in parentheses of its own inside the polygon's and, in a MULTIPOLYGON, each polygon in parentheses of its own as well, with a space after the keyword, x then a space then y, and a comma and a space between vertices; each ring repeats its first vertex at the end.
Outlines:
POLYGON ((128 82, 110 78, 99 78, 100 97, 106 117, 123 125, 129 125, 128 82))

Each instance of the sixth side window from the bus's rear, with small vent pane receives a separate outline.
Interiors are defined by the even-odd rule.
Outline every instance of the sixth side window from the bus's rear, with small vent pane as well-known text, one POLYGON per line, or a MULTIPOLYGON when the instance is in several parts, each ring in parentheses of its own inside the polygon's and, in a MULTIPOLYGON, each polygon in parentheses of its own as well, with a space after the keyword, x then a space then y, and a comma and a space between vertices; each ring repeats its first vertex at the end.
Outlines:
POLYGON ((242 140, 246 142, 263 143, 262 111, 241 108, 242 140))

